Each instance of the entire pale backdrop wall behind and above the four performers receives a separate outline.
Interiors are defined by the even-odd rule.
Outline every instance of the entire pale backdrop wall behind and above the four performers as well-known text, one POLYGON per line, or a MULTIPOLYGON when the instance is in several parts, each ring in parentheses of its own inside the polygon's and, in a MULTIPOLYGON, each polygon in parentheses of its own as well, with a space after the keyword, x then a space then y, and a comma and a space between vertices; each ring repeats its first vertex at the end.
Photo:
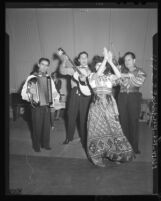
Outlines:
MULTIPOLYGON (((137 65, 148 74, 141 91, 151 98, 152 36, 157 32, 157 9, 6 9, 10 35, 10 91, 18 89, 42 56, 51 59, 63 47, 71 58, 80 51, 102 55, 111 47, 115 56, 136 54, 137 65)), ((65 82, 64 82, 65 83, 65 82)), ((65 87, 64 87, 65 89, 65 87)))

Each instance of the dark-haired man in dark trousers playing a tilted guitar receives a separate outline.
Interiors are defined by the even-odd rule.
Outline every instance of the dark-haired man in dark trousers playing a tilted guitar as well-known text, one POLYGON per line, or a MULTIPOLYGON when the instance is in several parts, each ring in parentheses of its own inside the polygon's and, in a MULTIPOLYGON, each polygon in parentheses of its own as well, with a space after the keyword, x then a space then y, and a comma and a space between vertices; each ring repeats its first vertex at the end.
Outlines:
MULTIPOLYGON (((80 119, 80 138, 83 147, 86 145, 86 122, 89 104, 91 100, 91 91, 87 83, 87 76, 90 74, 88 67, 88 53, 83 51, 78 55, 79 66, 67 67, 67 61, 70 58, 63 54, 63 63, 60 66, 60 73, 71 76, 71 92, 69 95, 69 104, 67 108, 67 134, 63 144, 68 144, 73 140, 76 119, 80 119)), ((72 63, 72 62, 71 62, 72 63)))

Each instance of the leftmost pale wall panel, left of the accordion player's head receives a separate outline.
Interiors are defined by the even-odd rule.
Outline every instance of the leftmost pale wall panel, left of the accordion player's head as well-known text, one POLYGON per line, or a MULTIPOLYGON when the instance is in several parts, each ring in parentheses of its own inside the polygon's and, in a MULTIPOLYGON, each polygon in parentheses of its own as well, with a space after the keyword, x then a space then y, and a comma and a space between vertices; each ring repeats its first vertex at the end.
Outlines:
POLYGON ((11 26, 10 35, 10 77, 14 71, 14 83, 18 89, 31 72, 33 65, 41 56, 40 41, 34 9, 8 9, 7 16, 11 26))

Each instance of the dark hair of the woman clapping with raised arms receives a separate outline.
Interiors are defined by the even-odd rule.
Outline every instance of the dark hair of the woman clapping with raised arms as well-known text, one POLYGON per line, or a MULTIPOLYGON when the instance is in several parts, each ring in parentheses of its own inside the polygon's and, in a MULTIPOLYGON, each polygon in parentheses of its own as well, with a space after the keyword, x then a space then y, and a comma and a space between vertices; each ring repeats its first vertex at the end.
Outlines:
MULTIPOLYGON (((95 68, 96 64, 97 63, 102 63, 102 62, 103 62, 103 57, 95 55, 93 57, 93 59, 92 59, 91 71, 96 72, 96 68, 95 68)), ((106 75, 108 73, 114 73, 114 72, 113 72, 113 69, 112 69, 111 65, 107 62, 106 63, 106 70, 104 71, 104 74, 106 75)))

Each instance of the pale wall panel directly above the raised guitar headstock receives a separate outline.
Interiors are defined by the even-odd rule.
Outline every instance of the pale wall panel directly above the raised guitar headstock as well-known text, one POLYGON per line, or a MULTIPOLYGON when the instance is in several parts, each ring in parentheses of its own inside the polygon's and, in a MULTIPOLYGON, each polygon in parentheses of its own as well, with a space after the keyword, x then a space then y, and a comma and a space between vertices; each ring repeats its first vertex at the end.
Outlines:
MULTIPOLYGON (((43 56, 51 59, 59 47, 64 48, 69 55, 73 52, 73 22, 71 9, 36 9, 36 19, 43 56)), ((50 72, 55 70, 51 63, 50 72)))

